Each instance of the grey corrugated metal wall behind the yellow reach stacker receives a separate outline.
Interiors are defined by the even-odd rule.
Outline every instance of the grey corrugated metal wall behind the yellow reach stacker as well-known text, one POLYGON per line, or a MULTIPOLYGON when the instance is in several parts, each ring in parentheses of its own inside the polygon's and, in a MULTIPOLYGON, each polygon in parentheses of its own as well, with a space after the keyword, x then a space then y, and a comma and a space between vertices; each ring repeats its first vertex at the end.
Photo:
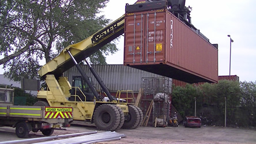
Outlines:
MULTIPOLYGON (((134 92, 138 92, 141 88, 143 77, 165 78, 161 75, 123 65, 92 65, 92 67, 97 71, 104 84, 111 92, 116 92, 117 90, 133 90, 134 92)), ((101 89, 91 71, 89 71, 89 67, 82 65, 82 69, 88 77, 92 78, 96 89, 101 89)), ((70 84, 72 84, 72 77, 78 75, 81 74, 76 67, 72 67, 64 73, 64 76, 69 78, 70 84)))

